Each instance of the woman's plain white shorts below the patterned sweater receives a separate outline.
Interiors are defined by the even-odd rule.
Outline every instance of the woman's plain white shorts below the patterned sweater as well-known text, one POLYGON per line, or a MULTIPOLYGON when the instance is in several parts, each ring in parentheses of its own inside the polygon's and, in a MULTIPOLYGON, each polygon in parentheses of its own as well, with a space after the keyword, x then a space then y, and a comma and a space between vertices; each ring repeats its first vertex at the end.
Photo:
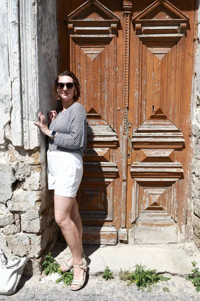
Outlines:
POLYGON ((62 197, 75 197, 82 179, 82 158, 76 153, 47 150, 48 189, 62 197))

